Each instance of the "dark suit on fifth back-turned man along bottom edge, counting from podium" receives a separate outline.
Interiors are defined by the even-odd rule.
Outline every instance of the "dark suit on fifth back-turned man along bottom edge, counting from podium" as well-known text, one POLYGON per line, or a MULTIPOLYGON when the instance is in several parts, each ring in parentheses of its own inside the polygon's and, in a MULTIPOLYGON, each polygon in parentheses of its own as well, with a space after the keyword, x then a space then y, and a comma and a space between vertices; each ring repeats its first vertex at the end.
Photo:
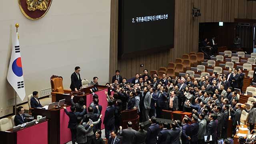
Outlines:
POLYGON ((168 132, 168 136, 166 138, 166 144, 179 144, 180 143, 180 128, 172 128, 168 132))

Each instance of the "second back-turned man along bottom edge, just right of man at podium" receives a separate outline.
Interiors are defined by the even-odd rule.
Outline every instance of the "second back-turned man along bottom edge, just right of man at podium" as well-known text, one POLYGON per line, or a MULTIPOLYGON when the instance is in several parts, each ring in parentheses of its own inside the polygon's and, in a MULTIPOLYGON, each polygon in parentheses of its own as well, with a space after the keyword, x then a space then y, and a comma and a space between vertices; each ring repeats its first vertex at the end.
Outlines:
POLYGON ((144 124, 140 123, 139 130, 134 133, 133 144, 146 144, 147 131, 144 128, 144 124))

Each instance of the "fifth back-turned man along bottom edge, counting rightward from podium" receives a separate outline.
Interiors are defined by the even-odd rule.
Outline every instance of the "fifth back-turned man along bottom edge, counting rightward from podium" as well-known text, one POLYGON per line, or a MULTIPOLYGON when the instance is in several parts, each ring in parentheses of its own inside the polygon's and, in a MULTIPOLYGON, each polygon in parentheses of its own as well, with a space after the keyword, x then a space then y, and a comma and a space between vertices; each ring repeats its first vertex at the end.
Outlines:
POLYGON ((176 122, 171 122, 170 128, 171 130, 168 131, 166 144, 179 144, 180 128, 178 128, 178 125, 176 122))

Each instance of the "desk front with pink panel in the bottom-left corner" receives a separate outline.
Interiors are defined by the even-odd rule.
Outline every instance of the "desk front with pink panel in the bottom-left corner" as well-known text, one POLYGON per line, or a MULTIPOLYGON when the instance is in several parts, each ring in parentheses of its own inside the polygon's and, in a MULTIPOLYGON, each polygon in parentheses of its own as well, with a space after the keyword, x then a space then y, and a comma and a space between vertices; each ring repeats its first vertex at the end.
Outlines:
POLYGON ((47 144, 48 142, 48 120, 21 128, 16 132, 12 129, 7 131, 0 131, 1 144, 47 144))

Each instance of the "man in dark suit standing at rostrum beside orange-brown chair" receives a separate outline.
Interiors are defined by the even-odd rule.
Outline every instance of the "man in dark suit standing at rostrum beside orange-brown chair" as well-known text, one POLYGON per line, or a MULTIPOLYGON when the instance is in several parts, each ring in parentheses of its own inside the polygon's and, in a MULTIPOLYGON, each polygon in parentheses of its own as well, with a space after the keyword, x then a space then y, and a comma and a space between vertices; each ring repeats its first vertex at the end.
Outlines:
POLYGON ((75 72, 71 74, 71 84, 70 84, 70 89, 72 91, 78 91, 82 87, 82 80, 80 77, 80 67, 76 66, 75 67, 75 72))

